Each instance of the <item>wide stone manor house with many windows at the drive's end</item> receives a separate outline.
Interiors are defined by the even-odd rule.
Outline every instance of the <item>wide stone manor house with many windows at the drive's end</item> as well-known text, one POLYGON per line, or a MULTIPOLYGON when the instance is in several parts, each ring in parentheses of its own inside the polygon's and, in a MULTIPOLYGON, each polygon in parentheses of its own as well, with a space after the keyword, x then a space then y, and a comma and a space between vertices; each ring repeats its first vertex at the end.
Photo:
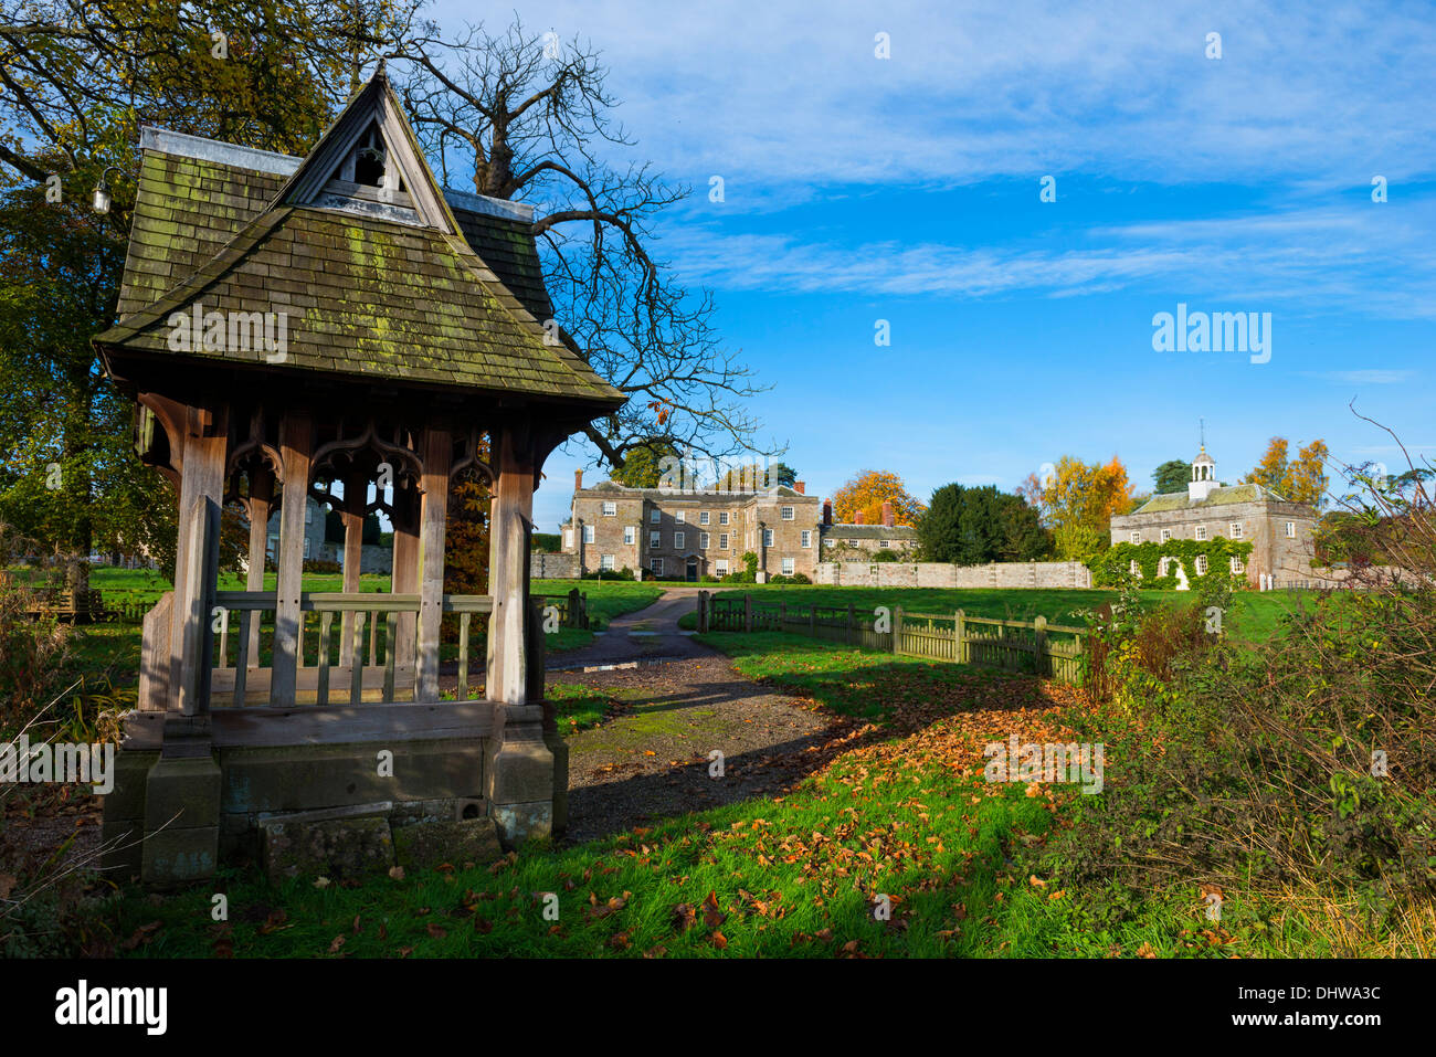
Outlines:
POLYGON ((898 526, 889 504, 883 524, 834 524, 833 504, 808 495, 803 481, 764 491, 673 491, 605 481, 583 487, 574 474, 573 508, 563 526, 569 576, 632 569, 645 579, 698 580, 742 572, 758 557, 758 582, 770 576, 813 577, 834 551, 905 553, 916 533, 898 526))

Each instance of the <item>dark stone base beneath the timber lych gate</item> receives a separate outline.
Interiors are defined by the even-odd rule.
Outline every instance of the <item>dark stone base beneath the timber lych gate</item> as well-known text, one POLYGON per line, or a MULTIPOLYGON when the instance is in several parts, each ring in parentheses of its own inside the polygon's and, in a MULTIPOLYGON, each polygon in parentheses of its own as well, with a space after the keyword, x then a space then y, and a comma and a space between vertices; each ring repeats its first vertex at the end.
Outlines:
POLYGON ((221 865, 279 882, 497 857, 566 823, 567 747, 528 718, 538 708, 495 724, 503 738, 224 744, 241 737, 240 711, 258 711, 237 709, 215 714, 213 744, 164 751, 164 717, 132 714, 103 801, 105 866, 165 888, 221 865))

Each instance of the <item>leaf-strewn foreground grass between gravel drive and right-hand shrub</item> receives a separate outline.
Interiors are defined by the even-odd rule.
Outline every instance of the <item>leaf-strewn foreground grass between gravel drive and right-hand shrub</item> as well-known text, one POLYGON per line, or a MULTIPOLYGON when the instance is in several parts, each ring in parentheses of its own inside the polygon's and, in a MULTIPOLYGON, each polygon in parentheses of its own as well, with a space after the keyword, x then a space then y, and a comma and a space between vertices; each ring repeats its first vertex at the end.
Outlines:
MULTIPOLYGON (((988 783, 982 747, 1074 737, 1064 721, 1081 705, 1066 688, 797 636, 711 639, 834 711, 870 715, 870 697, 883 725, 854 727, 850 748, 787 796, 606 840, 362 883, 227 872, 158 902, 126 889, 103 909, 134 956, 1330 954, 1261 900, 1231 898, 1212 925, 1195 885, 1116 903, 1057 885, 1080 794, 988 783), (210 919, 215 892, 225 923, 210 919)), ((584 694, 572 688, 563 708, 597 721, 584 694)))

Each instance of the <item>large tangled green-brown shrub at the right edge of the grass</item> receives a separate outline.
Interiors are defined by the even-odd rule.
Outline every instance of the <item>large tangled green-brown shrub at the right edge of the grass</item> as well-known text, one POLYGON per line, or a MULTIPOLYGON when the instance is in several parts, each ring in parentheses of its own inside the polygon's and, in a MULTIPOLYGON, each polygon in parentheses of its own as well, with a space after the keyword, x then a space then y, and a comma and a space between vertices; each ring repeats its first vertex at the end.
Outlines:
MULTIPOLYGON (((1403 518, 1436 541, 1425 494, 1403 518)), ((1328 592, 1256 645, 1208 630, 1221 583, 1147 615, 1124 593, 1090 642, 1120 767, 1077 879, 1356 893, 1377 931, 1436 898, 1436 546, 1403 562, 1406 586, 1328 592)))

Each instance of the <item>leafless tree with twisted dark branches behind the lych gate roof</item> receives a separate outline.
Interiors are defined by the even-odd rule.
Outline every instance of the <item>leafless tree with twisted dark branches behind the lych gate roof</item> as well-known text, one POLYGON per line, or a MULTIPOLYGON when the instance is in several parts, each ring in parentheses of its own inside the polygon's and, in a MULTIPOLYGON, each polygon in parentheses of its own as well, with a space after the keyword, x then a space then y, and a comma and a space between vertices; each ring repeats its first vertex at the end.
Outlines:
POLYGON ((625 408, 587 429, 613 467, 666 442, 694 455, 774 454, 754 447, 744 402, 761 392, 722 348, 707 290, 681 286, 653 254, 653 223, 688 194, 649 165, 613 168, 605 146, 630 146, 613 122, 617 101, 587 43, 500 34, 470 26, 454 40, 418 33, 406 60, 405 105, 442 180, 472 169, 474 190, 549 204, 533 233, 564 337, 628 394, 625 408))

